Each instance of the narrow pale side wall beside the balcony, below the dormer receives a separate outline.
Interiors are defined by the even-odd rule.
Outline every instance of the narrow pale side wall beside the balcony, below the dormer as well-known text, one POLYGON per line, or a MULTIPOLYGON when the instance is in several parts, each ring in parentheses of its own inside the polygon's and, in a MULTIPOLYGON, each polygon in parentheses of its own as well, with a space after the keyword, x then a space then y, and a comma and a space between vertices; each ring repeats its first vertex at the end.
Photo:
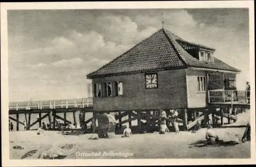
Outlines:
MULTIPOLYGON (((187 70, 187 103, 188 108, 197 108, 197 107, 206 107, 207 104, 207 90, 206 92, 198 91, 198 76, 204 76, 206 78, 207 84, 207 75, 204 71, 198 70, 187 70)), ((207 89, 207 86, 206 86, 207 89)))

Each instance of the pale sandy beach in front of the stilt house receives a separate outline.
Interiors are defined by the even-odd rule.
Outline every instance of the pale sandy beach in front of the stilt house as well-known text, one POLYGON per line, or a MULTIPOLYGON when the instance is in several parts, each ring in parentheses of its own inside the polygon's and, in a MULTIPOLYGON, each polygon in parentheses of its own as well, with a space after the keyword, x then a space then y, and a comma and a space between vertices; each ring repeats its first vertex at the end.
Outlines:
MULTIPOLYGON (((235 146, 207 146, 202 148, 189 148, 189 144, 204 140, 205 130, 200 129, 196 133, 173 132, 165 135, 155 133, 134 134, 130 138, 121 138, 116 135, 112 139, 89 140, 92 134, 83 135, 61 135, 57 131, 47 131, 46 135, 37 135, 36 131, 14 131, 10 132, 10 159, 21 159, 31 151, 37 153, 46 151, 53 144, 73 144, 74 150, 66 159, 86 158, 250 158, 250 141, 235 146), (24 149, 13 149, 21 146, 24 149), (101 155, 81 155, 83 152, 101 152, 101 155), (103 152, 130 152, 131 156, 103 156, 103 152)), ((227 132, 238 134, 241 138, 245 128, 219 128, 216 133, 224 141, 230 140, 227 132)), ((35 158, 35 157, 28 157, 35 158)))

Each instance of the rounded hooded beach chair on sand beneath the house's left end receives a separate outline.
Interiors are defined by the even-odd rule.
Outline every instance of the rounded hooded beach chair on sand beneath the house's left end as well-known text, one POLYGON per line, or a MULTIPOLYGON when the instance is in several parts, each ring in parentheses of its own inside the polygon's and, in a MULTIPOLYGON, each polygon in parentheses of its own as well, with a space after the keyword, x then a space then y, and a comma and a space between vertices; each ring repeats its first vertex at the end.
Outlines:
POLYGON ((116 120, 110 114, 98 114, 99 138, 113 138, 115 136, 116 120))

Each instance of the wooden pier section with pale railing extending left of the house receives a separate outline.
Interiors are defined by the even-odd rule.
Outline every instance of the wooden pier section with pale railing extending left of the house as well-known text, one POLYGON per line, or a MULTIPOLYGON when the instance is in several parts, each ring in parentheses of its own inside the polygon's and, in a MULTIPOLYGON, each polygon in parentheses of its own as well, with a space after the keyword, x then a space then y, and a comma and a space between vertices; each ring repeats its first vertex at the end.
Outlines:
POLYGON ((67 120, 67 112, 73 112, 74 124, 76 125, 75 113, 78 111, 82 112, 83 115, 86 112, 93 112, 92 98, 9 103, 9 119, 16 122, 17 131, 19 130, 19 124, 24 125, 23 122, 19 121, 19 114, 25 114, 27 130, 30 130, 37 123, 41 126, 42 119, 46 117, 49 119, 50 128, 52 128, 52 123, 55 126, 56 119, 62 120, 64 124, 72 124, 67 120), (34 113, 37 113, 38 117, 35 122, 31 123, 31 114, 34 113), (61 117, 58 113, 63 113, 64 116, 61 117), (11 117, 11 114, 16 114, 16 119, 11 117), (41 116, 41 114, 44 114, 44 116, 41 116))

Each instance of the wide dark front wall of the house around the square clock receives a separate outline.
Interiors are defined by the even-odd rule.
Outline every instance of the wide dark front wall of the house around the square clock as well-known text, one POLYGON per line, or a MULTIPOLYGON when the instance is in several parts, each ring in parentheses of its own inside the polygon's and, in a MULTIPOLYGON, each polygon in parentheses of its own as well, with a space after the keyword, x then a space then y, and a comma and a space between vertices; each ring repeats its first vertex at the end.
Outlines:
POLYGON ((158 71, 158 88, 145 89, 145 74, 95 78, 93 83, 123 82, 123 96, 94 98, 97 111, 187 108, 185 69, 158 71))

